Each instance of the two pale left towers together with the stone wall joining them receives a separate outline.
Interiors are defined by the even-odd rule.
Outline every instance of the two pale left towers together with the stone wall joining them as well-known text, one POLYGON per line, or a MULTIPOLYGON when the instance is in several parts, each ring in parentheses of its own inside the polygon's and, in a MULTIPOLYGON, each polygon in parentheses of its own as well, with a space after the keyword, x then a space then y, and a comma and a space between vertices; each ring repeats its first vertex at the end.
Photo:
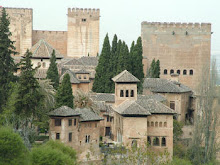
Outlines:
POLYGON ((33 10, 6 8, 12 40, 19 56, 44 39, 64 57, 97 56, 99 52, 99 9, 68 9, 67 31, 33 30, 33 10))

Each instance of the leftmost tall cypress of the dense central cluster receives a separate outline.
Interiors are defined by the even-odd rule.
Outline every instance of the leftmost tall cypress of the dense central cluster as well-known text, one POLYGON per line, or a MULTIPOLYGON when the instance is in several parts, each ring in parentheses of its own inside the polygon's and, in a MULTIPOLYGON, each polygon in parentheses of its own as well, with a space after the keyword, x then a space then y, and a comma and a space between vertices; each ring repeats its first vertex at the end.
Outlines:
POLYGON ((105 37, 102 52, 99 57, 99 63, 96 67, 96 75, 92 90, 97 93, 111 92, 111 47, 108 34, 105 37))

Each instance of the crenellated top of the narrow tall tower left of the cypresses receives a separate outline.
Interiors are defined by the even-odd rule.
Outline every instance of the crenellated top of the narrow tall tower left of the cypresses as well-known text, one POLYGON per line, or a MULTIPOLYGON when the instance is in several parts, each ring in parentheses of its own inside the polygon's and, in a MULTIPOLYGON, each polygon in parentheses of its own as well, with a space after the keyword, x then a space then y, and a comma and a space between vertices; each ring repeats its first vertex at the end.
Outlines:
POLYGON ((68 8, 68 15, 74 16, 99 16, 100 10, 99 9, 91 9, 91 8, 68 8))

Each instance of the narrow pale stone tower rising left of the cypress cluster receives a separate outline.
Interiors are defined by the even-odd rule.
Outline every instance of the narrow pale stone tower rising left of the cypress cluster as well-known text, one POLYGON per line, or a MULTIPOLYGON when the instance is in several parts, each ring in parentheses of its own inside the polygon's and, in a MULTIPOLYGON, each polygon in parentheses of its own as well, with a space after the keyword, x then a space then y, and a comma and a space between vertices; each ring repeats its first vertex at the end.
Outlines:
POLYGON ((99 52, 99 9, 68 9, 67 56, 96 56, 99 52))

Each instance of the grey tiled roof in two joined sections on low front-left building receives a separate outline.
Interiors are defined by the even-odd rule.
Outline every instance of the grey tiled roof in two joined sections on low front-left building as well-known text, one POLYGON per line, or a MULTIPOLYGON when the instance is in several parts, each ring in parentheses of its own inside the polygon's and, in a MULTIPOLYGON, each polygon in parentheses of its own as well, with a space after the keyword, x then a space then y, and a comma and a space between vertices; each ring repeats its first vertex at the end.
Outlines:
POLYGON ((103 120, 98 114, 88 108, 76 108, 72 109, 67 106, 62 106, 48 113, 49 116, 80 116, 80 121, 98 121, 103 120))

